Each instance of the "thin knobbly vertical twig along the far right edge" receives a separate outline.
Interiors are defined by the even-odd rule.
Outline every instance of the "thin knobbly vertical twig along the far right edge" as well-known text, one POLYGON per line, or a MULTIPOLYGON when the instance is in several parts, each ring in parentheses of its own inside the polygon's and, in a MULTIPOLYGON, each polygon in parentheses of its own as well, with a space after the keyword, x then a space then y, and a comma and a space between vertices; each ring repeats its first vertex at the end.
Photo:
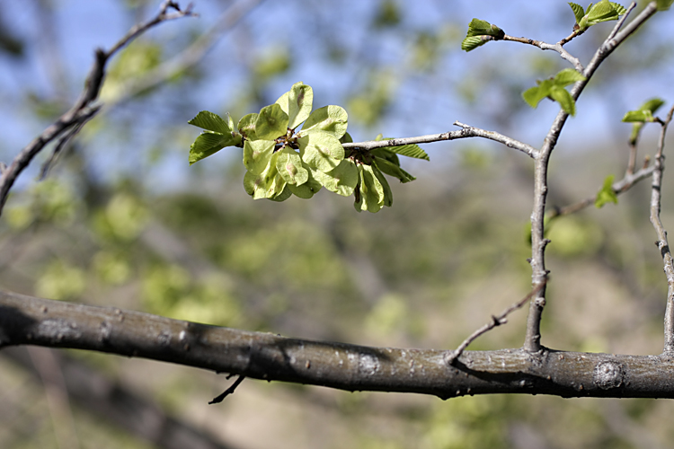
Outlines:
POLYGON ((660 140, 658 142, 658 153, 655 155, 655 170, 653 171, 653 182, 651 190, 651 223, 658 235, 658 246, 664 264, 665 276, 667 277, 667 306, 665 308, 665 348, 664 352, 674 351, 674 260, 671 256, 670 243, 667 241, 667 231, 665 231, 660 218, 661 200, 662 200, 662 173, 665 170, 665 156, 662 154, 665 147, 665 135, 667 127, 670 125, 672 116, 674 116, 674 106, 670 109, 667 119, 661 121, 660 140))

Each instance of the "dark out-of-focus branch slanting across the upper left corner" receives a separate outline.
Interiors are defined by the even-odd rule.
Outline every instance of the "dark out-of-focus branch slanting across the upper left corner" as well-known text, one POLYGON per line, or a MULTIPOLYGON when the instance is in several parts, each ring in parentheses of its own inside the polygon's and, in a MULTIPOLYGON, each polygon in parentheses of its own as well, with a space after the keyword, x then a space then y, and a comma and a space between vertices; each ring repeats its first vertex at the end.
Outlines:
POLYGON ((59 117, 52 125, 42 131, 40 136, 37 136, 30 144, 23 147, 21 152, 14 157, 12 163, 2 172, 2 177, 0 177, 0 215, 2 215, 4 203, 7 200, 7 196, 9 195, 10 189, 12 189, 14 181, 18 178, 19 174, 28 167, 32 159, 39 154, 46 145, 49 145, 49 143, 61 136, 67 136, 67 133, 69 133, 72 128, 78 128, 84 125, 86 121, 92 119, 101 109, 100 105, 94 105, 93 102, 96 101, 101 92, 105 75, 105 65, 108 60, 120 50, 120 48, 123 48, 131 40, 158 23, 191 15, 193 15, 191 13, 191 6, 188 6, 187 9, 181 11, 178 4, 172 1, 164 2, 159 13, 153 19, 133 27, 127 35, 119 40, 110 50, 105 51, 102 48, 96 50, 93 66, 84 83, 84 91, 75 102, 75 105, 59 117), (176 13, 168 13, 169 9, 175 10, 176 13))

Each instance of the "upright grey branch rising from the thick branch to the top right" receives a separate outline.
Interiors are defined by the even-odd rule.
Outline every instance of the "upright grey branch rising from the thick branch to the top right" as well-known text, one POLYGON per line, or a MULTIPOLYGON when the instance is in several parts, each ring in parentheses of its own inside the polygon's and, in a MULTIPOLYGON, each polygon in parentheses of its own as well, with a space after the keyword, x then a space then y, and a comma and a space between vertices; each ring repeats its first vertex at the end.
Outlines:
MULTIPOLYGON (((605 40, 597 49, 590 63, 582 75, 585 80, 573 84, 571 95, 573 101, 578 100, 585 86, 590 82, 590 78, 599 68, 599 65, 615 50, 625 39, 636 31, 644 22, 646 22, 657 11, 657 4, 651 2, 648 4, 632 22, 627 24, 622 31, 615 33, 613 37, 605 40)), ((548 271, 545 269, 545 247, 550 242, 545 239, 545 200, 547 198, 547 170, 550 161, 550 155, 554 146, 557 144, 559 135, 562 132, 566 119, 569 114, 560 110, 554 119, 550 130, 545 136, 543 146, 537 153, 534 163, 534 207, 531 213, 531 280, 533 285, 540 284, 548 271)), ((527 333, 524 340, 524 349, 529 352, 541 350, 540 322, 545 308, 545 287, 538 292, 537 297, 529 306, 529 315, 527 319, 527 333)))

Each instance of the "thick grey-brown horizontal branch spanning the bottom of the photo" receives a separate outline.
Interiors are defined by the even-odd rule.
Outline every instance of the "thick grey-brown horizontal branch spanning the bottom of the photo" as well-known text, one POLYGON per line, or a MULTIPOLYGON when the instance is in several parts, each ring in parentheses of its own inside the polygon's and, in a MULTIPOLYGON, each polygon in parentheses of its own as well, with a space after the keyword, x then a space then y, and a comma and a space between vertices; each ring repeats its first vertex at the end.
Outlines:
POLYGON ((346 391, 674 398, 674 357, 541 348, 448 351, 368 348, 0 293, 0 348, 38 345, 144 357, 254 379, 346 391))

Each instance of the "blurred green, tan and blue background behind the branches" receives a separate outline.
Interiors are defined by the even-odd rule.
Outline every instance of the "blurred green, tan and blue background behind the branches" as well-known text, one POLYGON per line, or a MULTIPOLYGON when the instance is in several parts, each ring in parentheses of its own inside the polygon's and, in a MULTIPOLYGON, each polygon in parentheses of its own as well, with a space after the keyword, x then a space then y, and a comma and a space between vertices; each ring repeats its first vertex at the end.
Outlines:
MULTIPOLYGON (((72 104, 93 48, 109 48, 157 7, 148 0, 4 4, 0 160, 11 161, 72 104)), ((186 122, 199 110, 239 119, 303 81, 314 87, 316 105, 348 110, 355 140, 439 133, 458 119, 540 145, 556 107, 530 110, 520 94, 563 61, 512 43, 466 54, 460 41, 474 16, 512 35, 560 40, 574 22, 565 2, 211 0, 195 9, 199 19, 165 23, 112 61, 106 109, 46 180, 35 177, 49 154, 23 174, 0 221, 2 288, 413 348, 455 348, 527 293, 532 170, 521 154, 477 140, 426 145, 432 162, 408 164, 419 180, 392 183, 394 207, 357 214, 350 198, 325 192, 310 201, 253 202, 240 153, 224 150, 188 166, 199 131, 186 122), (204 40, 206 56, 182 64, 204 40)), ((552 206, 593 195, 608 174, 620 177, 626 110, 655 95, 674 101, 673 24, 671 13, 659 14, 590 84, 555 150, 552 206)), ((593 27, 569 50, 587 61, 611 26, 593 27)), ((653 153, 652 131, 640 157, 653 153)), ((671 178, 666 173, 665 225, 674 223, 671 178)), ((646 184, 617 207, 554 221, 545 346, 661 352, 666 282, 652 248, 646 184)), ((471 348, 519 347, 525 315, 471 348)), ((670 401, 439 401, 246 381, 223 404, 207 406, 226 388, 224 376, 60 352, 226 447, 666 447, 674 437, 663 419, 674 411, 670 401)), ((153 446, 77 400, 52 401, 57 393, 44 376, 27 374, 34 366, 2 356, 0 446, 153 446)))

